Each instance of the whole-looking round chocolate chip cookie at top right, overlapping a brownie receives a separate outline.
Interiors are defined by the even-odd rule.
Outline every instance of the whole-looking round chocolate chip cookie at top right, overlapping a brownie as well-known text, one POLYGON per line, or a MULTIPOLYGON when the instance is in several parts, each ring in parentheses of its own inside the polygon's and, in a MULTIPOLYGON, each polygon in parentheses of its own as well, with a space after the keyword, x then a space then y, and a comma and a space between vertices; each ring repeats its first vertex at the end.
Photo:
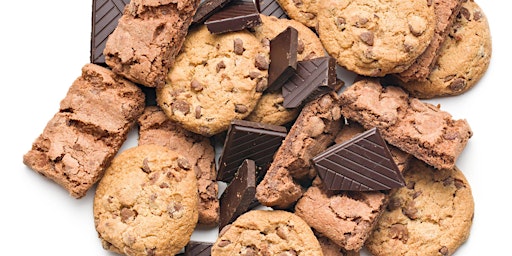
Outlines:
POLYGON ((407 69, 434 35, 431 1, 319 2, 318 34, 338 64, 364 76, 407 69))

